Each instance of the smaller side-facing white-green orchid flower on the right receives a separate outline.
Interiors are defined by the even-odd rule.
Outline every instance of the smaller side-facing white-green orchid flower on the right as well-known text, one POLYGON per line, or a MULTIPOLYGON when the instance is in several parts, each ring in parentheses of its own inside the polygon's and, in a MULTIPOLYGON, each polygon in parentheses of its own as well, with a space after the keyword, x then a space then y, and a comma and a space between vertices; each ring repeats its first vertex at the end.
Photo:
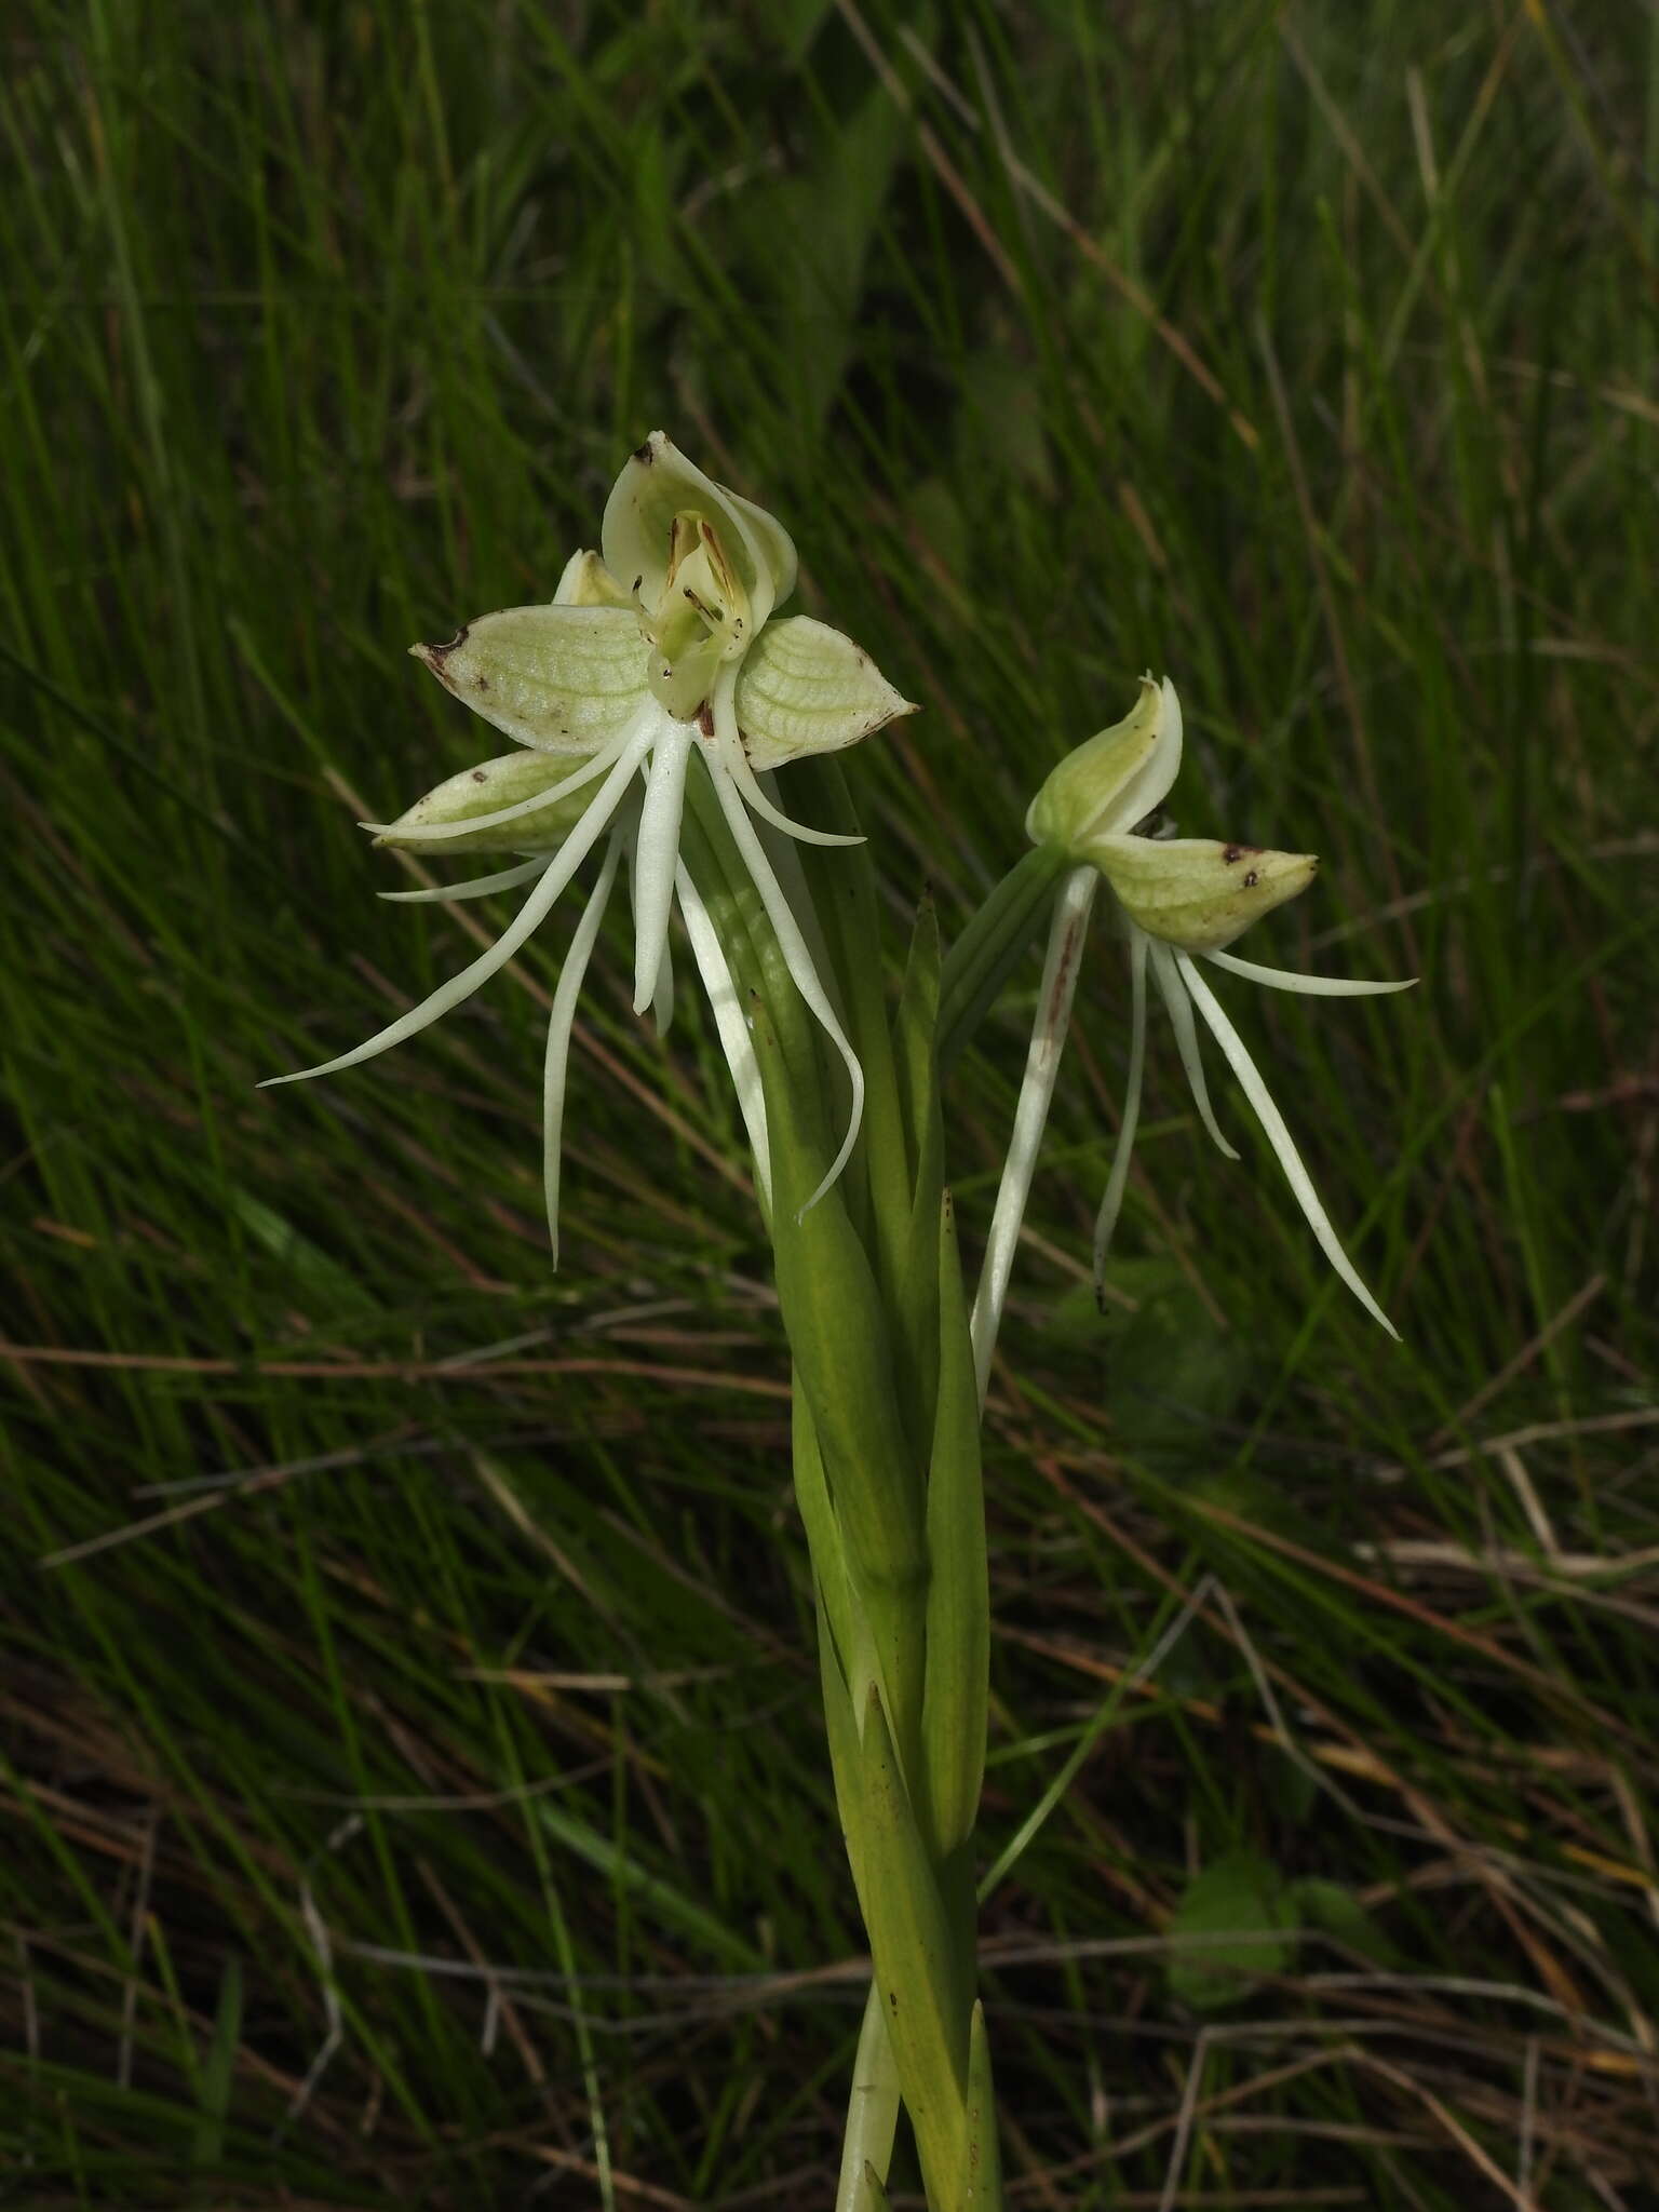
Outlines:
POLYGON ((1179 768, 1181 703, 1168 677, 1159 684, 1146 675, 1141 677, 1141 697, 1130 714, 1068 754, 1031 801, 1026 814, 1031 841, 1064 849, 1077 867, 1066 874, 1055 900, 1037 1022, 1015 1108, 1013 1146, 998 1190, 980 1296, 973 1307, 980 1391, 984 1391, 991 1367, 1013 1248, 1035 1172, 1037 1141, 1060 1068, 1082 936, 1102 880, 1110 887, 1128 938, 1130 1042, 1124 1121, 1095 1221, 1095 1281, 1104 1279, 1139 1126, 1146 1071, 1146 975, 1150 969, 1175 1029, 1192 1102, 1210 1137, 1228 1159, 1239 1157, 1221 1135, 1210 1104, 1194 1009, 1239 1077, 1321 1252, 1367 1314, 1380 1321, 1389 1336, 1398 1336, 1343 1250, 1261 1068, 1199 973, 1197 962, 1208 960, 1212 967, 1267 984, 1267 989, 1301 991, 1310 998, 1367 998, 1380 991, 1405 991, 1413 978, 1407 982, 1358 982, 1343 975, 1296 975, 1287 969, 1259 967, 1254 960, 1237 960, 1223 951, 1250 922, 1305 891, 1318 860, 1312 854, 1157 834, 1152 816, 1168 796, 1179 768))

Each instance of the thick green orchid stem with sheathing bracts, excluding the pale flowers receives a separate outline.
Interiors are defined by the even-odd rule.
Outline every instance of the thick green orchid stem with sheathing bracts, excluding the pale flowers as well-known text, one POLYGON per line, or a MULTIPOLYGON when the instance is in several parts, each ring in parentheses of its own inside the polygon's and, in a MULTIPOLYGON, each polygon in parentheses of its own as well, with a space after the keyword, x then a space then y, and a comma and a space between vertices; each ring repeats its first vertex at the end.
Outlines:
MULTIPOLYGON (((973 1896, 989 1590, 973 1349, 942 1183, 938 933, 925 909, 889 1022, 867 852, 768 841, 865 1075, 858 1144, 814 1199, 841 1141, 838 1068, 703 781, 692 770, 684 852, 748 998, 765 1093, 794 1482, 836 1805, 874 1960, 836 2205, 880 2205, 902 2099, 929 2203, 995 2212, 982 2185, 995 2117, 973 1896)), ((825 763, 801 763, 790 799, 818 827, 856 827, 825 763)), ((1000 933, 978 931, 964 1006, 1018 958, 1024 916, 1040 911, 1046 872, 1015 876, 1000 933)))

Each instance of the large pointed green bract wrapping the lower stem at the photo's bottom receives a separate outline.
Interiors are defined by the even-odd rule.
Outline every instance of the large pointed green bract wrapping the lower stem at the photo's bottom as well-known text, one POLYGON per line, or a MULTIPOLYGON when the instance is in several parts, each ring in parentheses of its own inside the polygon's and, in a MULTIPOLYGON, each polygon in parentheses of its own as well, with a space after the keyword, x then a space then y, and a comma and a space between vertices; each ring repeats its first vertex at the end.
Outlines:
POLYGON ((951 1924, 872 1683, 863 1725, 865 1880, 858 1902, 931 2203, 960 2203, 969 2022, 951 1924))

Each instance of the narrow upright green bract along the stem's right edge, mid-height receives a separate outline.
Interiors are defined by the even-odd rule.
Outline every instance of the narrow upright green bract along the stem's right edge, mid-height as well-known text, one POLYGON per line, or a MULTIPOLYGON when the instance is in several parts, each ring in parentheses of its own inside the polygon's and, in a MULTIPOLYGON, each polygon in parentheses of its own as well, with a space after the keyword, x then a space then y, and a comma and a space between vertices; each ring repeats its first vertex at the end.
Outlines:
POLYGON ((984 1785, 991 1590, 980 1478, 980 1391, 949 1190, 938 1221, 938 1400, 927 1471, 927 1686, 922 1759, 933 1856, 973 1834, 984 1785))

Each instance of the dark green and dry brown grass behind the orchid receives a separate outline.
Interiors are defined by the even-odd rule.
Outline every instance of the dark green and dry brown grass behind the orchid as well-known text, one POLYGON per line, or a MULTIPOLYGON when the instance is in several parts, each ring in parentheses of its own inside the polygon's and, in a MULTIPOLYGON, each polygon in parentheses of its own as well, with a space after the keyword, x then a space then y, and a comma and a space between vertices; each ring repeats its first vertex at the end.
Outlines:
POLYGON ((1323 854, 1256 958, 1422 975, 1223 984, 1396 1352, 1168 1037, 1093 1316, 1091 953, 989 1418, 1011 2201, 1650 2203, 1659 18, 22 0, 0 122, 0 2194, 830 2199, 860 1936, 708 1026, 604 949, 557 1276, 557 929, 252 1088, 471 951, 354 827, 478 752, 403 646, 661 425, 925 703, 852 763, 894 949, 1152 664, 1183 825, 1323 854))

